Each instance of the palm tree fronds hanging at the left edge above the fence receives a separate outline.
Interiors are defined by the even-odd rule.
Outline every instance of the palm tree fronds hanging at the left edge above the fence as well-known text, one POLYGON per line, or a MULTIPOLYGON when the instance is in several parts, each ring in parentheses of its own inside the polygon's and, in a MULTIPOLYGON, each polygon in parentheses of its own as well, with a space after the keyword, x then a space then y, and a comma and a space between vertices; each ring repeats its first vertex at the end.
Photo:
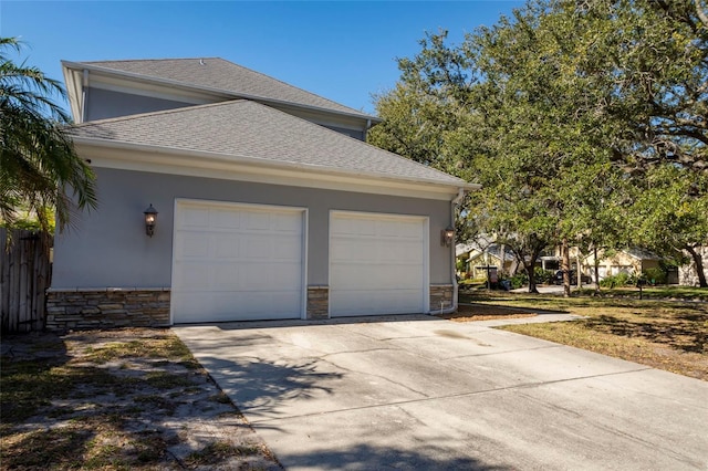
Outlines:
POLYGON ((94 176, 66 134, 70 117, 53 102, 64 97, 62 86, 9 56, 21 49, 15 38, 0 38, 0 217, 12 227, 27 211, 49 232, 53 210, 61 230, 74 208, 95 208, 94 176))

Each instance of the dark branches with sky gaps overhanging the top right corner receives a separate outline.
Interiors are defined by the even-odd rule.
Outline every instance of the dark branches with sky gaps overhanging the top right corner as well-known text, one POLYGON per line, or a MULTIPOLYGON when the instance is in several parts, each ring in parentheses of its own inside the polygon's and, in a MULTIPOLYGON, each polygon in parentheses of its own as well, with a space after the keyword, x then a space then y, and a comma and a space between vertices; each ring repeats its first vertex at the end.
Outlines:
POLYGON ((631 132, 616 157, 635 171, 658 164, 708 171, 706 1, 587 4, 585 28, 604 24, 596 40, 611 52, 595 54, 594 66, 611 74, 613 92, 621 97, 608 112, 631 132))

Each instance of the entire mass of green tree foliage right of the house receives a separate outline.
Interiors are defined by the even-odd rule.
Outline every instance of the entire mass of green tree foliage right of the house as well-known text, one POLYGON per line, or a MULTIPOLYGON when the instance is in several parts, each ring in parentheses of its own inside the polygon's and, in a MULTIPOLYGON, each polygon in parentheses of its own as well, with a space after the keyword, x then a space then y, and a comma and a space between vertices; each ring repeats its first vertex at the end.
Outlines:
POLYGON ((708 243, 702 12, 689 0, 531 0, 459 45, 428 34, 377 97, 385 122, 369 139, 481 184, 459 233, 510 247, 530 291, 550 244, 677 255, 708 243))

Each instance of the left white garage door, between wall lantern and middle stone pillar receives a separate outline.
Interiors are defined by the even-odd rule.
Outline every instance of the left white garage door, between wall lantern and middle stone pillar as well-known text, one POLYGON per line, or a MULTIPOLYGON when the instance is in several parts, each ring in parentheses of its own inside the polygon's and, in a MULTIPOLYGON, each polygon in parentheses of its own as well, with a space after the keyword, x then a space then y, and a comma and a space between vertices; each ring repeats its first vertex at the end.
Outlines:
POLYGON ((300 318, 301 209, 178 201, 173 322, 300 318))

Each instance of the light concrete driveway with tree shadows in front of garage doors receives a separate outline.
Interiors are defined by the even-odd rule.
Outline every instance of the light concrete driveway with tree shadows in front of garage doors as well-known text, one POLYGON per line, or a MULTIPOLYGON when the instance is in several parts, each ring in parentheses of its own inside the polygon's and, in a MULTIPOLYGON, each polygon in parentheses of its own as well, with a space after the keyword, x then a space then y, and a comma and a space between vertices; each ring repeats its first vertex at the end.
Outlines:
POLYGON ((288 470, 708 469, 708 383, 489 325, 175 332, 288 470))

